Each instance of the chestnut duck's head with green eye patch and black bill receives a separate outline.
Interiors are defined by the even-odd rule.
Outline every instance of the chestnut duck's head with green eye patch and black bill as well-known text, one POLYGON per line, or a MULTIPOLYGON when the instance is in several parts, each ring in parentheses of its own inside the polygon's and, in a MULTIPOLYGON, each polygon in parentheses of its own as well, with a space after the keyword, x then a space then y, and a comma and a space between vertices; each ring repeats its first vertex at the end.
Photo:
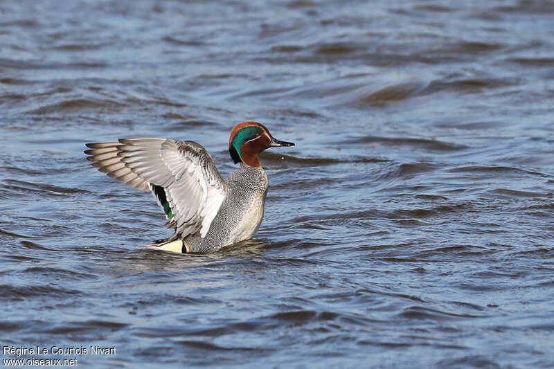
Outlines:
POLYGON ((273 138, 269 130, 256 122, 243 122, 235 125, 229 137, 229 154, 236 163, 244 163, 260 168, 258 154, 268 147, 294 146, 292 142, 273 138))

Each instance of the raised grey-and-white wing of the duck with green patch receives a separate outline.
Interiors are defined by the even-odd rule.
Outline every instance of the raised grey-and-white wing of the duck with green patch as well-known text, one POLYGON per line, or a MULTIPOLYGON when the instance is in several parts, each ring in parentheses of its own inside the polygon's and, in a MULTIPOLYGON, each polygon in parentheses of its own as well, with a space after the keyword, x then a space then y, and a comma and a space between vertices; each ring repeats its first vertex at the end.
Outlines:
POLYGON ((193 141, 124 138, 87 143, 87 160, 109 177, 151 191, 166 213, 168 228, 186 237, 205 237, 227 194, 227 188, 206 149, 193 141))

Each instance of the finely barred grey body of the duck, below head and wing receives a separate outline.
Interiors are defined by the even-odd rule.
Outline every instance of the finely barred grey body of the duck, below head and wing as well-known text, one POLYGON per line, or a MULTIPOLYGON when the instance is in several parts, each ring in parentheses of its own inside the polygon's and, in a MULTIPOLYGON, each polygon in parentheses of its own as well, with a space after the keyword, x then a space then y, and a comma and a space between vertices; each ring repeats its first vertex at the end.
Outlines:
POLYGON ((240 169, 231 172, 225 182, 228 194, 206 237, 192 236, 183 240, 188 252, 214 252, 248 240, 260 228, 268 186, 265 170, 241 164, 240 169))

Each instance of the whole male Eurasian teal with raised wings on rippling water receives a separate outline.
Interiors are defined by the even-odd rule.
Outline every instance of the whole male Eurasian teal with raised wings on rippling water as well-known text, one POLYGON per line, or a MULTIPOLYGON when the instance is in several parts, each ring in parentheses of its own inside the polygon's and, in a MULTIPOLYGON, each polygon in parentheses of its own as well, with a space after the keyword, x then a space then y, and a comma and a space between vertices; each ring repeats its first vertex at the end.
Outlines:
POLYGON ((273 138, 256 122, 235 125, 229 138, 239 170, 224 180, 210 154, 194 141, 123 138, 87 143, 84 153, 100 172, 152 192, 175 233, 154 245, 166 251, 210 253, 253 237, 264 216, 267 174, 258 154, 294 146, 273 138))

